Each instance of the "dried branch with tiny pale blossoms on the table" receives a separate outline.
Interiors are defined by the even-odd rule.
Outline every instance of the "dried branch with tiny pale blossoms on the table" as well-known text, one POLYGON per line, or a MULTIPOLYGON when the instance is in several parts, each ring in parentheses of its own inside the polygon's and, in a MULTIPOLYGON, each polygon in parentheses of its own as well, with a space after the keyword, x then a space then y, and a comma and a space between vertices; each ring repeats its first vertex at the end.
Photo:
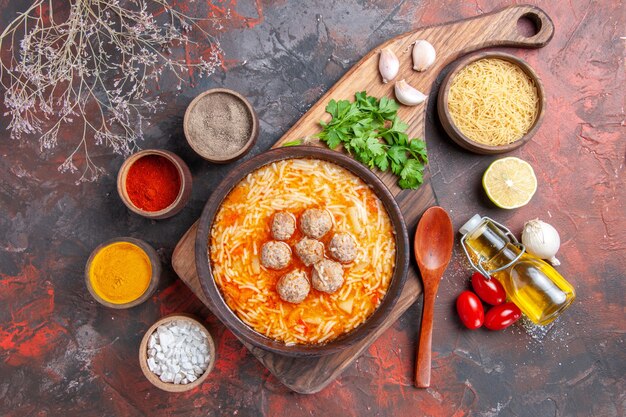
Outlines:
POLYGON ((167 0, 72 0, 69 7, 67 19, 58 21, 52 0, 36 0, 7 25, 0 49, 10 53, 0 58, 0 85, 11 138, 38 135, 41 150, 52 149, 64 127, 82 128, 59 170, 76 173, 79 161, 78 182, 93 181, 103 171, 88 147, 104 145, 124 156, 137 150, 145 117, 162 105, 145 98, 151 87, 164 73, 176 77, 178 89, 192 69, 211 75, 222 50, 202 26, 215 22, 167 0), (182 47, 200 44, 209 46, 207 57, 189 63, 179 56, 182 47))

